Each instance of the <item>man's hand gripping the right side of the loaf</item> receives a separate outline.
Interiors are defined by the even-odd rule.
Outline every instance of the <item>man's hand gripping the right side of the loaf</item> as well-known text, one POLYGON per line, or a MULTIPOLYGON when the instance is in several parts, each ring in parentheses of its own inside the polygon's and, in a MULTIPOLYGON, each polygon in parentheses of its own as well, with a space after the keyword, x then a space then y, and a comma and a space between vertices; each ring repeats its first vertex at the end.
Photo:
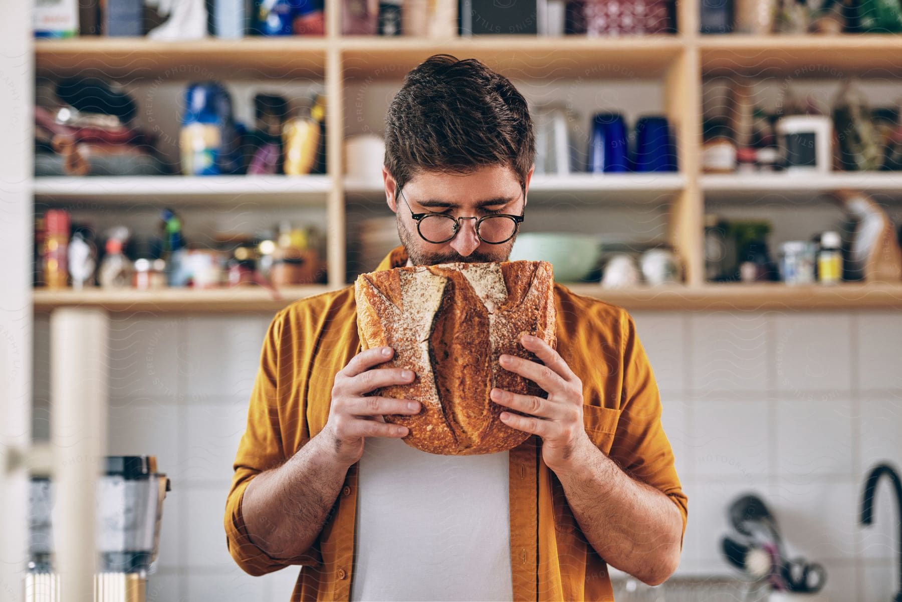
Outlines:
POLYGON ((559 474, 560 471, 573 467, 575 459, 586 449, 586 445, 594 448, 583 426, 583 382, 566 365, 564 358, 541 338, 524 335, 520 342, 544 366, 506 354, 499 357, 499 362, 505 370, 538 384, 548 393, 548 398, 493 388, 492 401, 529 414, 520 416, 502 412, 501 419, 511 428, 541 437, 542 459, 548 468, 559 474))

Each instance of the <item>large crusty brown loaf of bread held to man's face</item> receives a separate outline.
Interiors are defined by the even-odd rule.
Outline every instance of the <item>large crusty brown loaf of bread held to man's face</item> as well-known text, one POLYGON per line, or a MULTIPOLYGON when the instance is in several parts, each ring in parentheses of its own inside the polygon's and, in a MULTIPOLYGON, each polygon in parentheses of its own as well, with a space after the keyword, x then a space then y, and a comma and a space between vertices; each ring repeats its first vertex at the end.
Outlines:
POLYGON ((408 445, 434 454, 473 455, 506 451, 529 437, 501 421, 507 408, 489 393, 498 387, 547 395, 502 368, 498 357, 536 360, 520 345, 523 333, 556 346, 551 264, 399 267, 362 274, 354 296, 362 347, 394 348, 391 361, 381 366, 406 367, 417 375, 411 384, 373 392, 422 404, 416 415, 384 416, 408 427, 408 445))

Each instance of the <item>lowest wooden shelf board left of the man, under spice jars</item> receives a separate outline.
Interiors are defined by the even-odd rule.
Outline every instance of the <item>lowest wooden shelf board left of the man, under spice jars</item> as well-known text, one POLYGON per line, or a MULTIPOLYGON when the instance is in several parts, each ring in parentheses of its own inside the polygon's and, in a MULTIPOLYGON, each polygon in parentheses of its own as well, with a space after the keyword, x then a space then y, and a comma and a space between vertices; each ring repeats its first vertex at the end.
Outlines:
POLYGON ((244 312, 272 313, 292 301, 327 292, 323 284, 291 286, 279 290, 279 298, 272 291, 260 286, 241 286, 222 289, 162 289, 160 291, 135 291, 133 289, 105 290, 90 288, 33 292, 34 310, 50 311, 58 307, 97 307, 117 312, 244 312))

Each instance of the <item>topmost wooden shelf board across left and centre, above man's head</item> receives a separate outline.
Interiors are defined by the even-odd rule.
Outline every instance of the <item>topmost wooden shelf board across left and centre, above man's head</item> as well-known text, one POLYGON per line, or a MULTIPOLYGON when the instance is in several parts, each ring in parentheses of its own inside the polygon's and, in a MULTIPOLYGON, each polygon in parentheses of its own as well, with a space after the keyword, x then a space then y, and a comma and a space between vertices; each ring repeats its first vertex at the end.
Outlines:
POLYGON ((657 77, 682 50, 675 35, 541 37, 492 35, 442 40, 379 36, 247 37, 158 42, 147 38, 78 37, 35 41, 41 76, 115 79, 323 79, 327 51, 342 55, 345 77, 403 79, 429 55, 483 60, 511 78, 631 79, 657 77))

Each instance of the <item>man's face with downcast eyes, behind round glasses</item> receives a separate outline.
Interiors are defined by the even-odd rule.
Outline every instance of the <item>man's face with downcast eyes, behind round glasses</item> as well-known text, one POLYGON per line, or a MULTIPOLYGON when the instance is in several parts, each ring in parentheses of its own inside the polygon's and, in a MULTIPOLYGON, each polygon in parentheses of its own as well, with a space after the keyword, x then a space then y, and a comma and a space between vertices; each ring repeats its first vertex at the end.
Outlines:
MULTIPOLYGON (((526 188, 532 171, 526 177, 526 188)), ((412 265, 469 264, 507 261, 516 236, 501 245, 484 243, 476 236, 476 220, 463 219, 454 238, 437 245, 419 236, 417 222, 410 211, 446 213, 455 218, 482 218, 492 213, 523 213, 524 195, 520 182, 508 167, 486 166, 473 173, 461 175, 422 172, 412 178, 401 192, 408 205, 397 194, 395 182, 382 168, 382 178, 389 208, 398 217, 398 236, 412 265)))

